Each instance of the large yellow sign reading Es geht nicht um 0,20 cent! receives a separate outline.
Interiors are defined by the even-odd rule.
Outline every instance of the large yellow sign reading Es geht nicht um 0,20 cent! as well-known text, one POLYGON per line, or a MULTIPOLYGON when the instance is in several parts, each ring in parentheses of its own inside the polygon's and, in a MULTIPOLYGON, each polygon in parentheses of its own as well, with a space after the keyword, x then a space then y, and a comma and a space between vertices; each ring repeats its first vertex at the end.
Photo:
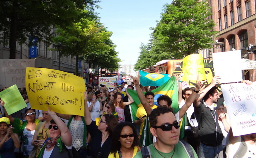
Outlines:
POLYGON ((26 89, 31 108, 84 116, 84 79, 47 68, 26 68, 26 89))

